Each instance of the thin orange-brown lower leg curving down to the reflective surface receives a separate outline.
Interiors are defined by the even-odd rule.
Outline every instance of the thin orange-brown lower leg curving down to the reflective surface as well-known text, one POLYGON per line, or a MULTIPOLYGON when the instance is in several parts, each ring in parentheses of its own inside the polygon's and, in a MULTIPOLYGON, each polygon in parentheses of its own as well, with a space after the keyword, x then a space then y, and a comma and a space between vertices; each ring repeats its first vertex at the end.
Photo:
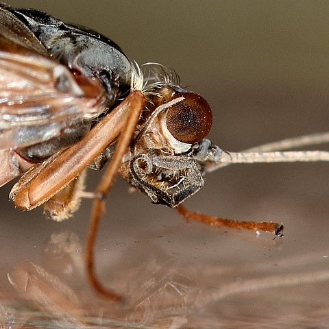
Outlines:
POLYGON ((127 147, 130 145, 130 141, 132 140, 132 136, 134 134, 134 130, 136 128, 139 116, 145 106, 145 98, 143 97, 143 95, 141 93, 135 93, 136 96, 134 97, 134 99, 132 99, 130 111, 127 115, 127 119, 121 132, 121 136, 119 137, 117 149, 115 149, 111 162, 108 165, 106 172, 103 174, 101 182, 99 182, 99 185, 95 190, 95 199, 93 202, 93 210, 86 240, 86 266, 88 280, 100 295, 117 302, 122 301, 123 297, 103 287, 101 282, 99 282, 99 280, 97 279, 97 276, 95 274, 94 246, 101 213, 104 212, 104 199, 110 191, 110 188, 114 181, 114 177, 117 174, 117 171, 121 165, 123 155, 127 151, 127 147))

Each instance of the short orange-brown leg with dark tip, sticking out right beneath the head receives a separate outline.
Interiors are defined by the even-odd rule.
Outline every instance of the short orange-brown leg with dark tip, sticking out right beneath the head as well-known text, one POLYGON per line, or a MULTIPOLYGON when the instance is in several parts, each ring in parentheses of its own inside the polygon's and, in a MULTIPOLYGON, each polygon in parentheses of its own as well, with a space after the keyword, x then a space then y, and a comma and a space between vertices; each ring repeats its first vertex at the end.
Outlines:
POLYGON ((208 215, 199 214, 198 212, 193 212, 187 210, 182 204, 180 204, 176 210, 184 217, 184 219, 193 219, 194 221, 199 221, 200 223, 205 223, 210 226, 221 226, 225 228, 235 228, 242 230, 252 230, 252 231, 264 231, 275 234, 276 236, 282 236, 283 225, 282 223, 269 223, 267 221, 257 222, 257 221, 235 221, 232 219, 225 219, 219 217, 213 217, 208 215))

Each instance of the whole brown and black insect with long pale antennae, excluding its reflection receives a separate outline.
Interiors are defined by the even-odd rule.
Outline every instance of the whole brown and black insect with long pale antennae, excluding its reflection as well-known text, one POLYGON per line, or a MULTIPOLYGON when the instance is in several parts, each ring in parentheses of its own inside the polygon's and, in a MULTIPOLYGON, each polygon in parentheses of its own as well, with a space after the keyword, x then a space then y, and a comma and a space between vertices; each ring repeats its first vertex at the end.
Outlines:
POLYGON ((278 151, 324 143, 326 134, 223 151, 205 138, 209 104, 184 90, 173 71, 149 63, 142 73, 108 38, 45 12, 2 3, 0 22, 0 186, 23 174, 10 193, 15 206, 43 204, 47 217, 62 221, 88 194, 84 169, 110 160, 92 193, 86 263, 93 287, 112 300, 122 297, 97 280, 93 246, 117 173, 186 219, 280 236, 281 223, 210 217, 181 203, 202 188, 206 172, 231 163, 329 160, 324 151, 278 151))

